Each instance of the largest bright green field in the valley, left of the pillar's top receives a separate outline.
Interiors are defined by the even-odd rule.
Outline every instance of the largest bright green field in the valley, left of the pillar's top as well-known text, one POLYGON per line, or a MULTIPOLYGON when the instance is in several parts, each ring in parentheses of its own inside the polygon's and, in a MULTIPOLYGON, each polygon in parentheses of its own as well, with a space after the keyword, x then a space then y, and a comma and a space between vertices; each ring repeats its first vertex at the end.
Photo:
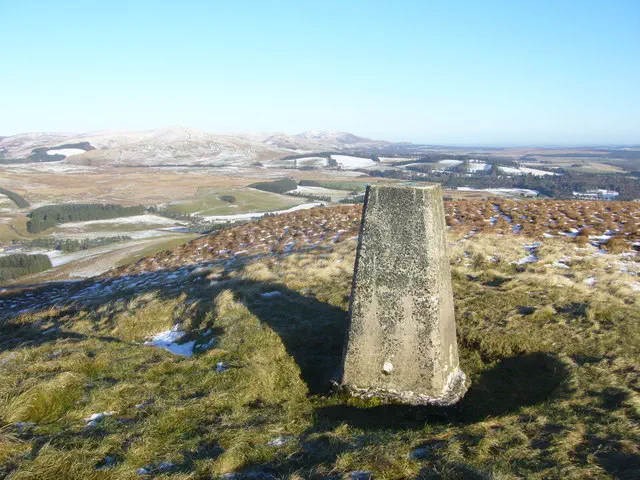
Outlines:
POLYGON ((199 215, 234 215, 237 213, 269 212, 285 210, 304 203, 303 198, 288 197, 277 193, 262 192, 243 188, 236 190, 204 189, 194 197, 170 203, 166 206, 169 212, 199 215), (231 204, 220 200, 223 195, 236 198, 231 204))

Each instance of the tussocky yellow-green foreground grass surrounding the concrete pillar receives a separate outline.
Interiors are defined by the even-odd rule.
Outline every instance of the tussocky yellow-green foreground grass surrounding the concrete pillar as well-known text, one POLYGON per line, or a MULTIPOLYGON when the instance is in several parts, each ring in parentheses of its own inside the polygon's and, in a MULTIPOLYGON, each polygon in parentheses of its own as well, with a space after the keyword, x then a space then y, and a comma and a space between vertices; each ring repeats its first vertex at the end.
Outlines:
POLYGON ((182 292, 136 289, 10 319, 0 329, 0 476, 138 478, 137 468, 172 462, 166 476, 176 479, 634 478, 637 295, 604 278, 582 284, 607 259, 576 263, 573 280, 546 267, 563 248, 550 243, 543 262, 525 267, 509 263, 519 240, 476 236, 453 249, 472 385, 447 409, 328 394, 353 242, 212 267, 182 292), (215 345, 193 358, 141 345, 176 322, 215 345), (219 362, 228 370, 217 373, 219 362), (103 411, 114 413, 86 428, 83 418, 103 411), (269 443, 277 437, 281 446, 269 443), (106 457, 113 464, 100 469, 106 457))

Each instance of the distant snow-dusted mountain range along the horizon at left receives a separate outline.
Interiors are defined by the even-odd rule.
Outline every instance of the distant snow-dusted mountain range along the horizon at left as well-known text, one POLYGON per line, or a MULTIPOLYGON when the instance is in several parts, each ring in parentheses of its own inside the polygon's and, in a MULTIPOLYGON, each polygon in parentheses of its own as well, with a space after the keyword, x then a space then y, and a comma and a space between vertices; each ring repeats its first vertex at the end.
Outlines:
POLYGON ((84 165, 241 166, 318 152, 404 153, 419 146, 358 137, 346 132, 212 134, 193 128, 25 133, 0 137, 0 163, 65 161, 84 165))

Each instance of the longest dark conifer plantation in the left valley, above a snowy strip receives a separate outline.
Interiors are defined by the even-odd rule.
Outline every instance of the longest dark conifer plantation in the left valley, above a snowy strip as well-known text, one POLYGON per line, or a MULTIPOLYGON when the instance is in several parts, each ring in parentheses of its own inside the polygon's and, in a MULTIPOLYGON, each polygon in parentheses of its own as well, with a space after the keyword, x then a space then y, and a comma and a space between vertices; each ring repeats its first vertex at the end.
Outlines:
POLYGON ((142 205, 133 207, 99 203, 45 205, 31 210, 28 215, 27 230, 30 233, 40 233, 60 223, 130 217, 132 215, 141 215, 144 211, 145 209, 142 205))

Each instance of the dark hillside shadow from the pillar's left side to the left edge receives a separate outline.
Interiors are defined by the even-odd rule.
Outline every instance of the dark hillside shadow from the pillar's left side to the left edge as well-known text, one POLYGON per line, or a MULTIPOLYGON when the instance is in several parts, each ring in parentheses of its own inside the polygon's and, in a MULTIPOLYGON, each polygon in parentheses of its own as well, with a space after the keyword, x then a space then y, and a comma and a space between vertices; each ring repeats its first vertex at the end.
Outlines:
MULTIPOLYGON (((311 295, 302 295, 282 284, 229 277, 230 270, 240 271, 252 259, 247 257, 230 264, 228 270, 213 282, 189 275, 176 281, 175 275, 180 269, 166 269, 114 277, 106 281, 100 279, 102 283, 99 285, 91 280, 13 285, 0 296, 0 317, 5 317, 4 322, 0 319, 0 352, 59 339, 73 341, 88 338, 64 328, 65 322, 80 311, 92 312, 91 321, 96 325, 96 330, 115 328, 120 315, 128 311, 128 302, 134 301, 139 309, 152 301, 144 296, 148 291, 158 292, 162 300, 184 295, 186 304, 197 305, 191 327, 198 328, 213 309, 212 299, 228 289, 236 300, 242 301, 262 323, 269 325, 282 338, 287 352, 299 365, 309 391, 312 394, 326 393, 340 368, 347 326, 345 310, 311 295), (28 298, 24 296, 25 292, 30 295, 28 298), (60 292, 64 292, 64 300, 53 304, 48 302, 49 298, 60 296, 60 292), (265 293, 267 295, 263 295, 265 293), (6 306, 16 299, 26 303, 10 312, 6 306), (30 313, 39 313, 46 312, 53 305, 60 310, 52 316, 47 315, 46 320, 19 324, 6 322, 8 317, 25 308, 30 313)), ((198 265, 191 268, 195 270, 198 265)), ((175 321, 180 319, 176 318, 175 321)), ((100 336, 98 332, 91 338, 120 341, 115 337, 100 336)))

